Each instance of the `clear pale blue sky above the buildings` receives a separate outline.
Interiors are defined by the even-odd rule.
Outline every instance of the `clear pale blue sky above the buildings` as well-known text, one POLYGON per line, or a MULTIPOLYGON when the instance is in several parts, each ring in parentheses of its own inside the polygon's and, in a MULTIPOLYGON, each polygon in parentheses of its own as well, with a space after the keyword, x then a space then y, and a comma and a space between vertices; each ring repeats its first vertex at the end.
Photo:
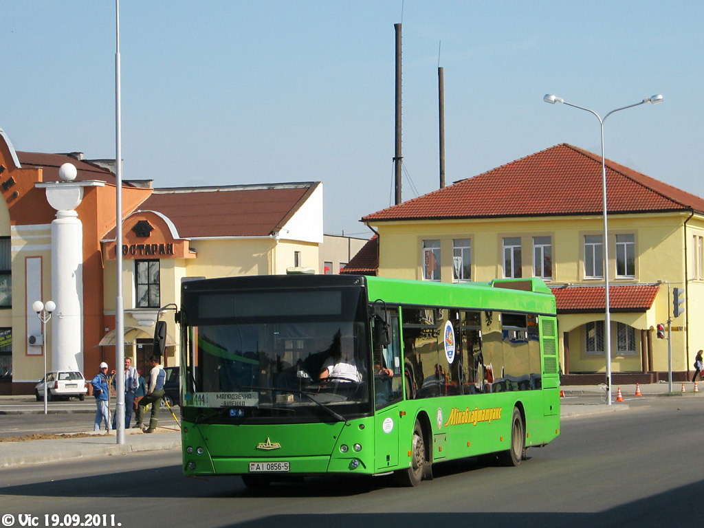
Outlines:
MULTIPOLYGON (((115 156, 115 3, 2 3, 0 127, 20 151, 115 156)), ((392 200, 394 23, 403 199, 567 142, 704 196, 704 2, 122 0, 122 158, 156 187, 320 180, 325 232, 392 200), (402 11, 403 8, 403 11, 402 11), (441 45, 440 45, 441 43, 441 45), (408 180, 413 182, 413 186, 408 180), (417 190, 417 194, 414 191, 417 190)))

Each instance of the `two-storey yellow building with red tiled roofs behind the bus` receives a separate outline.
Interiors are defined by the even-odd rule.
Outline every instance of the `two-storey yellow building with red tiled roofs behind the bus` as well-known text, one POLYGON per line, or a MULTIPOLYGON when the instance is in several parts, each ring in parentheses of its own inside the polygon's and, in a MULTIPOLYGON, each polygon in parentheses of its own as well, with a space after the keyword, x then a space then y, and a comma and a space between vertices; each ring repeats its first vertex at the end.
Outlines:
MULTIPOLYGON (((704 348, 696 324, 704 305, 704 200, 612 161, 606 168, 614 382, 667 379, 668 337, 673 379, 691 379, 704 348), (676 288, 684 298, 677 317, 676 288)), ((560 144, 367 215, 363 222, 379 234, 377 274, 441 282, 541 277, 557 299, 563 382, 601 382, 601 182, 600 156, 560 144)))

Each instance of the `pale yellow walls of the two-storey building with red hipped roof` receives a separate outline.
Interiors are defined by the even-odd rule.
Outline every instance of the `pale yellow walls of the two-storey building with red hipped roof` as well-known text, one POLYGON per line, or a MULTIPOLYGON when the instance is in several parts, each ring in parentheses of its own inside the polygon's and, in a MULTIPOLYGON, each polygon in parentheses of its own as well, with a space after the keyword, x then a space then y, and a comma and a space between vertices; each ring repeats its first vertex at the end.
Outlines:
MULTIPOLYGON (((684 287, 686 268, 691 260, 692 234, 704 236, 704 217, 689 218, 685 213, 610 215, 609 217, 609 277, 610 284, 653 284, 670 282, 670 287, 684 287), (685 262, 684 222, 687 220, 687 260, 685 262), (616 277, 616 234, 634 234, 635 277, 616 277)), ((603 278, 588 279, 584 275, 584 235, 603 233, 603 219, 599 216, 501 218, 477 220, 436 220, 408 222, 376 222, 371 227, 379 232, 379 275, 405 279, 422 279, 422 241, 441 241, 441 280, 452 282, 453 239, 472 241, 472 280, 488 282, 503 277, 503 238, 521 237, 522 275, 532 277, 532 237, 552 238, 553 277, 548 286, 562 284, 595 284, 603 286, 603 278)), ((689 316, 704 309, 704 280, 688 283, 687 310, 672 319, 673 327, 688 331, 672 332, 673 370, 691 369, 693 357, 704 348, 704 328, 689 316), (689 351, 688 351, 689 344, 689 351)), ((653 329, 653 361, 655 370, 667 370, 667 339, 655 338, 655 325, 665 323, 672 312, 672 301, 667 296, 667 284, 660 286, 653 306, 645 313, 613 312, 612 358, 614 371, 640 371, 641 329, 653 329), (615 322, 623 322, 636 329, 636 354, 619 356, 616 353, 615 322)), ((592 320, 603 320, 603 313, 565 314, 558 317, 560 338, 570 332, 570 369, 578 372, 603 371, 604 356, 584 353, 584 325, 592 320)), ((560 353, 564 353, 560 339, 560 353)), ((564 358, 564 356, 562 356, 564 358)))

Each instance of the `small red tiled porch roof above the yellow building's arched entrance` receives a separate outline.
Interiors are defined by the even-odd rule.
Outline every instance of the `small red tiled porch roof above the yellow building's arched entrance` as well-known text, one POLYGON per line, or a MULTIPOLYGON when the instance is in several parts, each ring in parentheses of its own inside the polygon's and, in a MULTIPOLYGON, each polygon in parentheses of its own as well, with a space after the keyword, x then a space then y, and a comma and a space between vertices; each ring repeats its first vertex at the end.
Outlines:
MULTIPOLYGON (((609 287, 612 312, 644 312, 653 306, 659 284, 630 284, 609 287)), ((559 313, 603 312, 603 286, 567 286, 551 288, 559 313)))

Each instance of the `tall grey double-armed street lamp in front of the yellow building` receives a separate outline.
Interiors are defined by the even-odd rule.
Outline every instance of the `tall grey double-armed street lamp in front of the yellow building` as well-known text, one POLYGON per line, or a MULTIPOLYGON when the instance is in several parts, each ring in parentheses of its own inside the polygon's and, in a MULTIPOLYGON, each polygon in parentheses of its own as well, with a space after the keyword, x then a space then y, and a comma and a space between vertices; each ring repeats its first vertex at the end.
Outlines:
POLYGON ((615 110, 607 113, 603 118, 601 118, 598 113, 589 108, 584 108, 583 106, 577 106, 576 104, 567 103, 562 97, 558 97, 551 94, 546 94, 543 97, 543 101, 546 103, 562 103, 567 106, 572 106, 573 108, 579 108, 579 110, 584 110, 592 115, 595 115, 599 120, 599 126, 601 127, 601 194, 603 200, 603 217, 604 217, 604 234, 603 234, 603 256, 604 256, 604 353, 606 356, 606 401, 608 405, 611 405, 611 310, 609 304, 609 251, 608 251, 608 214, 606 206, 606 163, 604 158, 604 121, 612 113, 616 113, 626 108, 633 108, 634 106, 639 106, 644 103, 658 104, 662 103, 662 95, 657 94, 650 96, 639 103, 629 104, 628 106, 622 106, 621 108, 616 108, 615 110))

